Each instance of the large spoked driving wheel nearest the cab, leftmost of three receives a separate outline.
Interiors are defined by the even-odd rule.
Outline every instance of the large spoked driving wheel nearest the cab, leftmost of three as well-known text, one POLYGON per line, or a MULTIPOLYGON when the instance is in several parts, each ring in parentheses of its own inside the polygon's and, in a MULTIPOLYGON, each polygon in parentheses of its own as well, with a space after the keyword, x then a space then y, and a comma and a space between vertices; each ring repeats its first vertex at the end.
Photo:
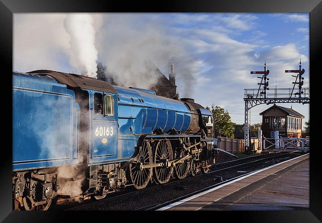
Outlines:
POLYGON ((138 162, 129 165, 131 181, 136 189, 145 188, 152 176, 152 168, 142 168, 142 165, 152 164, 152 150, 149 142, 144 141, 138 154, 138 162))

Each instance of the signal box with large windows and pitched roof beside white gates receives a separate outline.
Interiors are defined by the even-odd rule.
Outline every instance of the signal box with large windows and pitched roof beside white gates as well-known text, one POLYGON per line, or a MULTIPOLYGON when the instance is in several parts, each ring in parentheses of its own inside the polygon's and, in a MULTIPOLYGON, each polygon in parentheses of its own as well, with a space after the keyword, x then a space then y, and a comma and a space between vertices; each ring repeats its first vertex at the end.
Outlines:
POLYGON ((273 105, 260 113, 263 115, 262 132, 266 138, 273 138, 271 132, 278 131, 282 138, 301 138, 303 114, 293 110, 273 105))

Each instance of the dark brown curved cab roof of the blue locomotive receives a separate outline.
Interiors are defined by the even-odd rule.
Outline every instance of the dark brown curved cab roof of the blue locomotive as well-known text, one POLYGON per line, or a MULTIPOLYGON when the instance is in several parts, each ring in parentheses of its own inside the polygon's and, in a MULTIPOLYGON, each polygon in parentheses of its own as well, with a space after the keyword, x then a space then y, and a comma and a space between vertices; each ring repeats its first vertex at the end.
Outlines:
POLYGON ((78 74, 63 73, 53 70, 34 70, 27 73, 37 75, 48 75, 56 79, 59 83, 66 84, 70 87, 80 87, 83 89, 90 89, 96 91, 103 91, 108 93, 117 93, 115 88, 102 80, 98 80, 91 77, 86 77, 78 74))

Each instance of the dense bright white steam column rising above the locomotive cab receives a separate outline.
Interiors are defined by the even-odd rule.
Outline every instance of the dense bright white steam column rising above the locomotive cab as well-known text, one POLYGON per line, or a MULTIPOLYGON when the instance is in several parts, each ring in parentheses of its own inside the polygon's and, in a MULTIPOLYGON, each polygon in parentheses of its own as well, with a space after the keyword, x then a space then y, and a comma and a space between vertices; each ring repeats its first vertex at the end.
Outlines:
POLYGON ((89 14, 68 14, 64 19, 64 28, 70 37, 70 63, 90 77, 96 76, 98 57, 93 23, 89 14))

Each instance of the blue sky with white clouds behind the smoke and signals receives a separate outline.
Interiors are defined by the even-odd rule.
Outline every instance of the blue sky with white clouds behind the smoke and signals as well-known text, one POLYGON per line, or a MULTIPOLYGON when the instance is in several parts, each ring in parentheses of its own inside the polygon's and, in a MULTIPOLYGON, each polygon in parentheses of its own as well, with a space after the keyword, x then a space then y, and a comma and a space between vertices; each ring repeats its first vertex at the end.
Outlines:
MULTIPOLYGON (((297 69, 301 58, 304 86, 309 87, 309 13, 107 13, 90 14, 95 29, 97 59, 115 72, 121 83, 146 87, 140 73, 151 59, 164 74, 175 61, 177 91, 203 106, 215 104, 244 123, 245 88, 258 88, 250 71, 270 73, 269 88, 291 88, 294 78, 285 69, 297 69), (121 67, 120 61, 131 65, 121 67), (123 75, 123 76, 122 76, 123 75), (130 80, 135 77, 134 80, 130 80), (123 78, 123 79, 122 79, 123 78), (139 81, 138 81, 139 80, 139 81)), ((71 57, 66 14, 14 14, 14 70, 81 70, 71 57), (39 32, 41 31, 41 32, 39 32)), ((146 83, 146 84, 145 84, 146 83)), ((309 105, 291 107, 309 119, 309 105)), ((261 105, 251 110, 251 123, 261 122, 261 105)), ((304 123, 304 122, 303 122, 304 123)), ((303 124, 304 126, 304 124, 303 124)))

